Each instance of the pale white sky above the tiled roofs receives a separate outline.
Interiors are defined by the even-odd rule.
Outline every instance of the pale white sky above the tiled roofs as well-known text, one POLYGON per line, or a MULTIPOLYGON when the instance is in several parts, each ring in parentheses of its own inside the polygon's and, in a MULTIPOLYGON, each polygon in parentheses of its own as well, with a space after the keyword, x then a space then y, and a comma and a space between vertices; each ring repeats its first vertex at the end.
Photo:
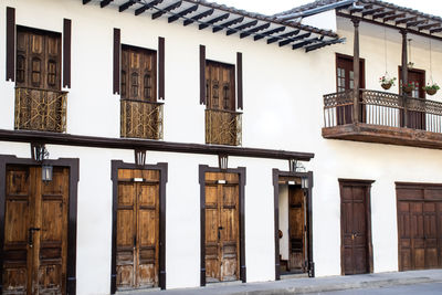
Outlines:
MULTIPOLYGON (((260 12, 262 14, 274 14, 284 10, 290 10, 294 7, 303 6, 314 0, 210 0, 217 3, 227 4, 239 9, 244 9, 251 12, 260 12)), ((419 10, 421 12, 442 17, 441 0, 387 0, 400 7, 407 7, 419 10)))

